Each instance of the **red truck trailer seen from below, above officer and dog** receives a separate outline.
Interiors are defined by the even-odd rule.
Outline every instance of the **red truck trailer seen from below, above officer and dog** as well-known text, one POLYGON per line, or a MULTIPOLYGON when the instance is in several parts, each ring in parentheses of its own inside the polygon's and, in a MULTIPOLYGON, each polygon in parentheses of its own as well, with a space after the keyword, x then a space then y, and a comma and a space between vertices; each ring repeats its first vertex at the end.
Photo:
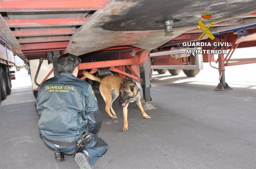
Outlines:
POLYGON ((231 59, 236 48, 256 46, 255 0, 8 0, 0 14, 0 36, 30 65, 35 96, 44 80, 58 75, 56 60, 66 53, 81 58, 81 79, 87 69, 141 83, 148 109, 154 107, 151 69, 196 76, 203 62, 211 64, 214 52, 221 52, 216 90, 227 90, 225 66, 256 62, 231 59))

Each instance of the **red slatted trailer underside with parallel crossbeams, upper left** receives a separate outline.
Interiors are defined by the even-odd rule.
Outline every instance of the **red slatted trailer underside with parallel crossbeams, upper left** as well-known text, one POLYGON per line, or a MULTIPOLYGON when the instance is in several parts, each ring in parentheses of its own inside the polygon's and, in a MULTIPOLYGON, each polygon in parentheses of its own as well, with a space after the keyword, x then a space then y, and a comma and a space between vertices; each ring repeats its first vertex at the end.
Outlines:
POLYGON ((95 12, 92 10, 101 9, 106 1, 3 1, 0 14, 5 29, 0 30, 0 36, 25 62, 36 56, 24 54, 57 50, 63 53, 71 35, 86 23, 95 12))

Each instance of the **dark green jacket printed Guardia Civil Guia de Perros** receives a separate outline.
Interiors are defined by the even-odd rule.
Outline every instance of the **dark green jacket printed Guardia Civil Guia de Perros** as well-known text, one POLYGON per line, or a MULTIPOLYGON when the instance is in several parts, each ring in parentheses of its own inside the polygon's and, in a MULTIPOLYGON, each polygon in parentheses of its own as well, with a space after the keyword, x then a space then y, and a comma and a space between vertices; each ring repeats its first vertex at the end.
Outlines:
POLYGON ((36 109, 41 116, 38 130, 51 140, 73 142, 81 137, 86 124, 93 134, 101 127, 98 101, 91 85, 72 73, 60 73, 46 80, 38 92, 36 109))

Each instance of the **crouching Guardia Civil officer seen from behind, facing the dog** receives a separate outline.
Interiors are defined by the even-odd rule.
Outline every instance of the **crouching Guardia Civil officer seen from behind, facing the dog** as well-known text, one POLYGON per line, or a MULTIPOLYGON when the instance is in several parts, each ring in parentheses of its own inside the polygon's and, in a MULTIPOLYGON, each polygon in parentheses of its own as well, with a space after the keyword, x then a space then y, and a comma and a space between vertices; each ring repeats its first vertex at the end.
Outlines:
POLYGON ((36 100, 38 130, 45 145, 55 151, 57 161, 64 161, 64 154, 73 154, 80 168, 92 168, 108 145, 97 136, 101 127, 98 101, 92 86, 77 78, 78 63, 75 55, 60 56, 60 75, 40 87, 36 100))

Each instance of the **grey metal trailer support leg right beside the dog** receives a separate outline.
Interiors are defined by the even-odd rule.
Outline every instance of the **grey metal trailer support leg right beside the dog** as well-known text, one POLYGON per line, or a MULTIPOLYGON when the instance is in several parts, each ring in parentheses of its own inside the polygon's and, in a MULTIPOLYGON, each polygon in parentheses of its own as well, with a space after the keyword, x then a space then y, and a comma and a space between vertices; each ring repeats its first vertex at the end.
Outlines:
POLYGON ((141 72, 141 87, 143 90, 143 99, 141 100, 141 104, 144 110, 153 110, 157 109, 154 107, 154 102, 150 96, 150 66, 149 66, 149 58, 144 63, 144 65, 140 66, 141 72))

